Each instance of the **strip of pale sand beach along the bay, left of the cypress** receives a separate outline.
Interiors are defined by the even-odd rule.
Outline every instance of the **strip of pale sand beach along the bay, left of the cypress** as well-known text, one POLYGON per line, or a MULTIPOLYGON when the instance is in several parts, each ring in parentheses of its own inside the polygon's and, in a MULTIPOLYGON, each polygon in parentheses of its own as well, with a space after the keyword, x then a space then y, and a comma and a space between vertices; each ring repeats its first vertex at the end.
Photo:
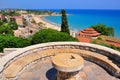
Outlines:
POLYGON ((34 20, 36 21, 36 23, 39 23, 39 22, 44 23, 47 28, 52 28, 52 29, 60 31, 60 27, 59 26, 54 25, 52 23, 49 23, 49 22, 43 20, 43 17, 45 17, 45 16, 46 15, 34 16, 34 20))

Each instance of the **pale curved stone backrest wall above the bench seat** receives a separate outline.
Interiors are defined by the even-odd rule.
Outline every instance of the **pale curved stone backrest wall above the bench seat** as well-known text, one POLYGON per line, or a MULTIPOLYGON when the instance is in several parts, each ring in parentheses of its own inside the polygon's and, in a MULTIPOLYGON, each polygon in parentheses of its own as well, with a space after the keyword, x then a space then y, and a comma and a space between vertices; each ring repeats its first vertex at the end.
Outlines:
POLYGON ((107 47, 90 44, 90 43, 83 43, 83 42, 50 42, 50 43, 37 44, 37 45, 29 46, 26 48, 22 48, 0 58, 0 77, 4 77, 4 69, 10 63, 19 59, 20 57, 23 57, 27 54, 30 54, 36 51, 43 51, 47 49, 56 49, 56 48, 82 49, 82 50, 97 52, 99 54, 112 58, 117 62, 120 62, 119 60, 120 52, 107 47))

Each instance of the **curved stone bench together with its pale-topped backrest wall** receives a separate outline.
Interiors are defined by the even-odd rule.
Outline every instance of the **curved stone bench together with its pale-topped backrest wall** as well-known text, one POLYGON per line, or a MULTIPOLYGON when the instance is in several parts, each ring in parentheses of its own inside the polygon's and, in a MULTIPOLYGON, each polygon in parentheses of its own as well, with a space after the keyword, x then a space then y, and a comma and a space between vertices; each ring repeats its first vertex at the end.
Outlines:
POLYGON ((78 54, 85 60, 103 67, 114 77, 120 77, 119 51, 83 42, 50 42, 21 48, 0 58, 0 80, 16 80, 34 62, 42 61, 61 53, 78 54))

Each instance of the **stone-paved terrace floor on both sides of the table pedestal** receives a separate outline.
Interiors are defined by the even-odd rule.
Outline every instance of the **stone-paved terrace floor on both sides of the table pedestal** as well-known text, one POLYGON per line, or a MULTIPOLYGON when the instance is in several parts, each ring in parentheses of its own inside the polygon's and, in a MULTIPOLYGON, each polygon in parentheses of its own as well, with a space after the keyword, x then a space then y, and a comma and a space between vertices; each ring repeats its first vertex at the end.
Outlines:
MULTIPOLYGON (((18 80, 55 80, 56 74, 57 71, 53 68, 51 60, 46 59, 31 65, 20 75, 18 80)), ((83 80, 120 80, 89 61, 85 61, 80 76, 83 80)))

